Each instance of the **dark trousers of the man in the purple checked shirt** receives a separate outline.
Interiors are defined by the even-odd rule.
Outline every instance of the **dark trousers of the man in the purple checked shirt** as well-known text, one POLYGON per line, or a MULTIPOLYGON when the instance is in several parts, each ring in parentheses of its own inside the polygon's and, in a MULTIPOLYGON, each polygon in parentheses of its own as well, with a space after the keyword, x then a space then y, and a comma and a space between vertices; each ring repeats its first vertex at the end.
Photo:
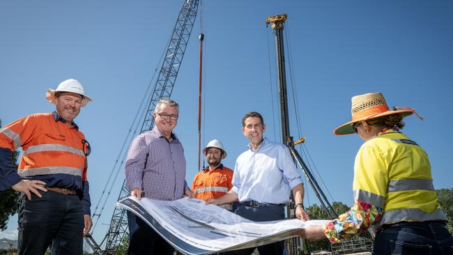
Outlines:
POLYGON ((140 217, 128 211, 129 226, 129 255, 173 255, 174 247, 171 247, 151 226, 146 224, 140 217))

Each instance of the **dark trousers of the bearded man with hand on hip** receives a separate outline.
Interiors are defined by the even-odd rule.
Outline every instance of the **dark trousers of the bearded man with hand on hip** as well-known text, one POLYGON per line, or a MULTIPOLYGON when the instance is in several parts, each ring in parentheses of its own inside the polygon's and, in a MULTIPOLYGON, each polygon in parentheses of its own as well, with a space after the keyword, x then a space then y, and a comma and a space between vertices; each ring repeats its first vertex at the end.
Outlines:
POLYGON ((76 195, 40 192, 31 200, 22 194, 19 201, 18 254, 83 253, 84 212, 76 195))

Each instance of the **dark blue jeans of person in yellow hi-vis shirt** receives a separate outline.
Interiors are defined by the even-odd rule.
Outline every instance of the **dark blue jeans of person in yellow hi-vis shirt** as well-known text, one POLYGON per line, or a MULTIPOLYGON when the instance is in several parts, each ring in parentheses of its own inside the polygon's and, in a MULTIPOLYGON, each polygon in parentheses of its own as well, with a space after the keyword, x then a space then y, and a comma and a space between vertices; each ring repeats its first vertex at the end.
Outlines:
POLYGON ((376 234, 373 255, 453 254, 453 238, 445 224, 407 222, 385 226, 376 234))

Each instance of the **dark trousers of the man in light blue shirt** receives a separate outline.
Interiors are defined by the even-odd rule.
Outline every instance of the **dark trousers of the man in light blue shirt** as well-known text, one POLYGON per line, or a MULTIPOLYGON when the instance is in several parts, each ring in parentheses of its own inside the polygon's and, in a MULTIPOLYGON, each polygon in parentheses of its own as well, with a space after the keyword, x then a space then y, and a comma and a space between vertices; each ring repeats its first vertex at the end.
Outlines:
MULTIPOLYGON (((267 222, 270 220, 284 219, 283 206, 260 206, 249 207, 240 204, 235 213, 245 219, 250 219, 254 222, 267 222)), ((284 241, 274 242, 269 245, 257 247, 260 255, 281 255, 284 250, 284 241)), ((223 255, 249 255, 252 254, 255 248, 238 249, 232 252, 225 252, 223 255)))

